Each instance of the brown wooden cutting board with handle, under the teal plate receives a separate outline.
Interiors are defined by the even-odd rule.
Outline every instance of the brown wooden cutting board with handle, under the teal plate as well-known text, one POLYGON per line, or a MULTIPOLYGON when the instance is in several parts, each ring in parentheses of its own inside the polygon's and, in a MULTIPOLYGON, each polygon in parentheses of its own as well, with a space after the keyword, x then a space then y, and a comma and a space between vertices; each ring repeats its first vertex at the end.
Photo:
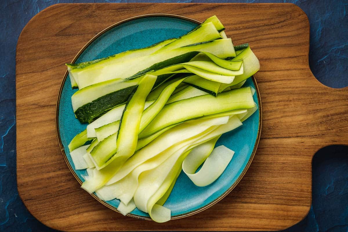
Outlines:
MULTIPOLYGON (((282 230, 311 206, 311 160, 321 147, 348 145, 348 88, 319 83, 308 65, 309 23, 293 4, 93 3, 41 11, 17 44, 17 185, 39 221, 64 231, 282 230), (98 32, 151 13, 203 21, 216 14, 235 44, 260 59, 262 133, 237 187, 211 208, 157 224, 122 216, 91 197, 70 173, 55 128, 57 93, 70 62, 98 32)), ((327 64, 330 65, 330 64, 327 64)))

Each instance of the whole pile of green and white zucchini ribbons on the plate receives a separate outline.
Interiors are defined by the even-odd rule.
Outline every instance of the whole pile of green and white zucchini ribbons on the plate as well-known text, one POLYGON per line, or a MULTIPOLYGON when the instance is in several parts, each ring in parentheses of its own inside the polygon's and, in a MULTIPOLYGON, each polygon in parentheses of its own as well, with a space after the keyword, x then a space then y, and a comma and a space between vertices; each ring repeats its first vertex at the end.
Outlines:
POLYGON ((138 208, 166 222, 163 204, 181 170, 197 186, 223 173, 234 152, 215 143, 257 110, 243 84, 260 69, 224 29, 212 16, 179 38, 66 64, 79 89, 74 114, 89 123, 69 144, 74 168, 87 169, 84 190, 119 199, 124 215, 138 208))

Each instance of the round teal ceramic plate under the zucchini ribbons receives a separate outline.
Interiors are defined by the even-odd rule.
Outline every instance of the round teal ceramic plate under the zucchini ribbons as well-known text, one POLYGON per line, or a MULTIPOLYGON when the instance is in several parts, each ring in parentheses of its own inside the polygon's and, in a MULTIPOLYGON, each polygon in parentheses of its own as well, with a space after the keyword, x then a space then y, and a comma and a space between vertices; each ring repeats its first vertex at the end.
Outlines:
MULTIPOLYGON (((81 49, 73 62, 90 61, 129 49, 147 47, 165 39, 179 37, 195 28, 197 24, 199 22, 193 19, 161 14, 126 19, 96 35, 81 49)), ((234 150, 234 157, 224 173, 206 187, 197 187, 186 175, 181 173, 171 195, 164 204, 165 207, 172 210, 172 219, 189 216, 214 205, 237 185, 248 169, 259 142, 261 102, 256 81, 249 78, 245 86, 252 86, 256 89, 254 101, 258 104, 259 110, 247 119, 242 127, 222 135, 216 144, 216 146, 223 144, 234 150)), ((73 114, 71 96, 76 91, 76 89, 71 89, 70 78, 66 73, 58 94, 56 128, 63 157, 72 174, 81 184, 84 181, 82 175, 87 175, 87 173, 85 170, 74 169, 68 149, 71 139, 87 126, 87 124, 81 124, 73 114)), ((104 202, 96 195, 93 194, 93 196, 114 210, 119 204, 118 200, 104 202)), ((150 219, 147 213, 138 209, 133 210, 129 216, 150 219)))

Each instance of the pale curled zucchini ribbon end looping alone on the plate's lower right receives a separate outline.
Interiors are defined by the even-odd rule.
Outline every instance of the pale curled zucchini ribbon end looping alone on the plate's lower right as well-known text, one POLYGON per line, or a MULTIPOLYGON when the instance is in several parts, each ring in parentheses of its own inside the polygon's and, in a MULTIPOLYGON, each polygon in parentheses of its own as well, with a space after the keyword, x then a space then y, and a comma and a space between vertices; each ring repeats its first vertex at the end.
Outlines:
POLYGON ((216 141, 212 139, 196 147, 182 163, 182 170, 197 186, 207 186, 219 178, 235 153, 223 145, 214 148, 216 141), (196 173, 202 162, 203 166, 196 173))

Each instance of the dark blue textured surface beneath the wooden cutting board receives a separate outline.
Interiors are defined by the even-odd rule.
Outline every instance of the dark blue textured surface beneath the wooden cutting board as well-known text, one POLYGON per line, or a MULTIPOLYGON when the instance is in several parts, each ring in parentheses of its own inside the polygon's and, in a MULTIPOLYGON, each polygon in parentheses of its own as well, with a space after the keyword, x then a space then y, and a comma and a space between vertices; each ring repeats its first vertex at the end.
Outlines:
MULTIPOLYGON (((17 39, 26 23, 40 10, 67 2, 292 2, 309 18, 309 64, 315 77, 330 87, 348 86, 347 0, 1 0, 0 231, 54 231, 26 210, 17 192, 15 58, 17 39)), ((313 159, 312 209, 302 222, 285 231, 348 231, 348 147, 330 146, 317 152, 313 159)))

